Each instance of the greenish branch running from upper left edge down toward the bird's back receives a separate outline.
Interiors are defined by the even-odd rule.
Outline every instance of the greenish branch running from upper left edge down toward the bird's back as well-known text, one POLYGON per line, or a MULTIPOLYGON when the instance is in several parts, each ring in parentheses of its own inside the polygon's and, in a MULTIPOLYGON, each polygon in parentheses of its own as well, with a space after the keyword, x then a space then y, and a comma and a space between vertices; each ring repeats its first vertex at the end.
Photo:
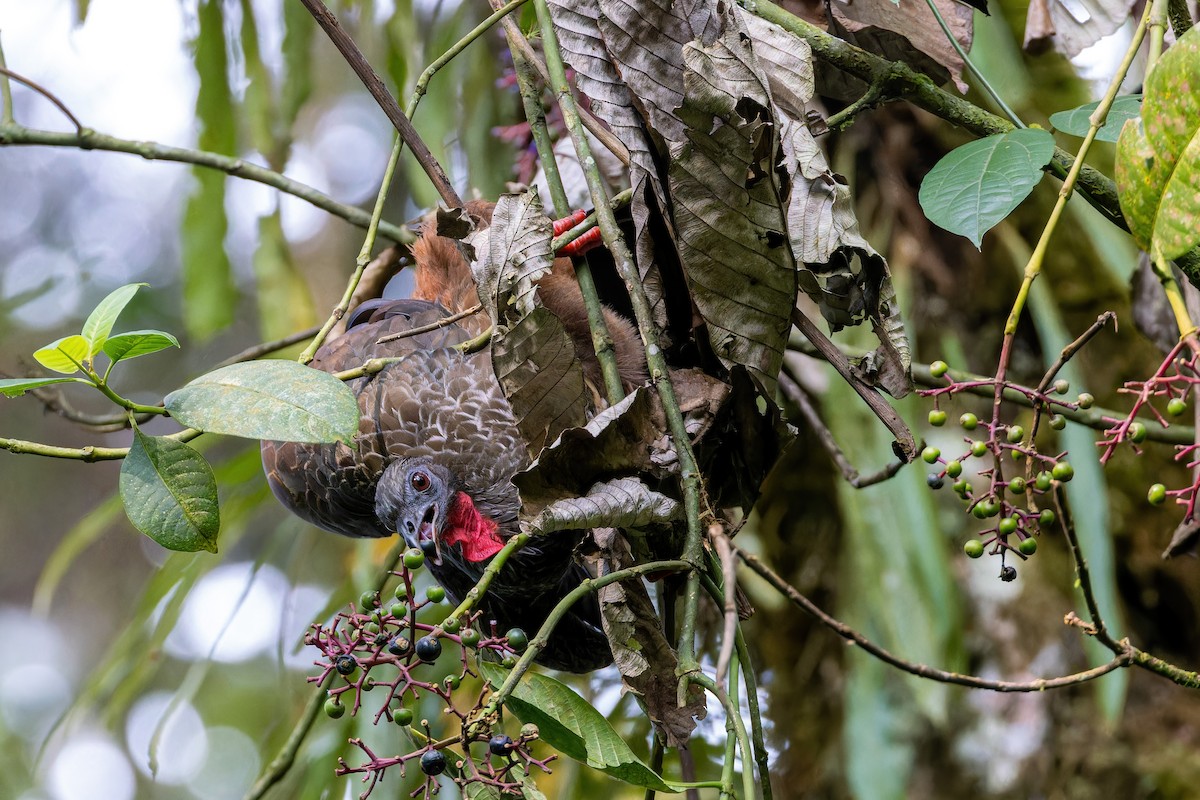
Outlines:
MULTIPOLYGON (((26 128, 20 125, 0 125, 0 146, 4 145, 42 145, 48 148, 76 148, 78 150, 104 150, 108 152, 124 152, 131 156, 140 156, 146 161, 170 161, 182 164, 196 164, 217 169, 227 175, 251 180, 264 186, 278 190, 286 194, 298 197, 323 211, 328 211, 335 217, 346 219, 353 225, 366 228, 371 224, 371 215, 353 205, 338 203, 334 198, 318 192, 311 186, 292 180, 280 173, 250 163, 242 158, 233 158, 206 150, 192 150, 188 148, 174 148, 157 142, 134 142, 121 139, 104 133, 97 133, 85 128, 80 133, 65 133, 56 131, 38 131, 26 128)), ((379 224, 379 233, 392 241, 410 242, 414 239, 413 231, 401 225, 384 222, 379 224)))

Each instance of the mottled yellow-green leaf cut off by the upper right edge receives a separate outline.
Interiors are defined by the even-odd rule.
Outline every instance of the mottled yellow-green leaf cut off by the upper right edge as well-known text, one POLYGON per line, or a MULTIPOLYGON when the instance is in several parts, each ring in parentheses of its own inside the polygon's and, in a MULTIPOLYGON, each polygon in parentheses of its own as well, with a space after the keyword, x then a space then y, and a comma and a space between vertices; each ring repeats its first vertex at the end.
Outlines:
POLYGON ((1163 258, 1200 243, 1200 31, 1189 30, 1146 78, 1141 116, 1117 139, 1121 211, 1138 246, 1163 258))

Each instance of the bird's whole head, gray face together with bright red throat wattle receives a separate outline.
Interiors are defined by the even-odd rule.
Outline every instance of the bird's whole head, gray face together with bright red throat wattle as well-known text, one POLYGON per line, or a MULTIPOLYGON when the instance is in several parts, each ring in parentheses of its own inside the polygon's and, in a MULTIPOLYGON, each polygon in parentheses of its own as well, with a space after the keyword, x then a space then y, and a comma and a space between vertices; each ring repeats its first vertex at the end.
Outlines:
POLYGON ((497 524, 479 513, 451 471, 425 458, 403 458, 383 471, 376 516, 436 565, 442 564, 443 548, 455 545, 473 563, 504 546, 497 524))

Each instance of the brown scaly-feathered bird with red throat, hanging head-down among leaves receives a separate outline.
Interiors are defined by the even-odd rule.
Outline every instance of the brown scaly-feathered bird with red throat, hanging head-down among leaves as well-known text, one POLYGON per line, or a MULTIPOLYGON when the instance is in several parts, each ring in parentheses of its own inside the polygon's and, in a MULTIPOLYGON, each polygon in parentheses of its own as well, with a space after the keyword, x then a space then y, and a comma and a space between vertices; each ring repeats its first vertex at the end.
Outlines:
MULTIPOLYGON (((467 211, 476 224, 490 224, 492 204, 472 203, 467 211)), ((487 350, 455 348, 490 321, 484 314, 450 320, 478 302, 467 260, 431 223, 412 251, 413 296, 360 305, 346 332, 311 362, 338 372, 373 357, 397 360, 348 381, 360 411, 354 446, 264 441, 263 467, 275 497, 318 528, 354 537, 398 533, 421 548, 433 578, 461 602, 520 531, 521 497, 512 479, 529 456, 487 350)), ((539 293, 572 336, 584 374, 599 381, 569 259, 556 259, 539 293)), ((605 317, 623 383, 643 383, 636 329, 612 309, 605 317)), ((574 555, 581 537, 582 531, 539 536, 516 551, 476 604, 484 622, 494 624, 498 634, 539 630, 556 604, 590 577, 574 555)), ((569 609, 538 661, 575 673, 612 662, 594 594, 569 609)))

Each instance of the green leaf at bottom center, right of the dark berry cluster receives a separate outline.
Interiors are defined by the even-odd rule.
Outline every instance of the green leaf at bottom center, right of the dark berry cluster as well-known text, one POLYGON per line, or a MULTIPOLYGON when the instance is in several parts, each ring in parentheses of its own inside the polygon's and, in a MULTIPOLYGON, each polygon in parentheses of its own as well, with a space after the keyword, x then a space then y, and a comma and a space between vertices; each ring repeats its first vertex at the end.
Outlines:
MULTIPOLYGON (((480 672, 493 686, 508 676, 503 667, 480 662, 480 672)), ((542 741, 558 752, 606 775, 655 792, 678 792, 642 763, 625 740, 590 703, 552 678, 527 674, 505 708, 522 722, 538 726, 542 741)))

